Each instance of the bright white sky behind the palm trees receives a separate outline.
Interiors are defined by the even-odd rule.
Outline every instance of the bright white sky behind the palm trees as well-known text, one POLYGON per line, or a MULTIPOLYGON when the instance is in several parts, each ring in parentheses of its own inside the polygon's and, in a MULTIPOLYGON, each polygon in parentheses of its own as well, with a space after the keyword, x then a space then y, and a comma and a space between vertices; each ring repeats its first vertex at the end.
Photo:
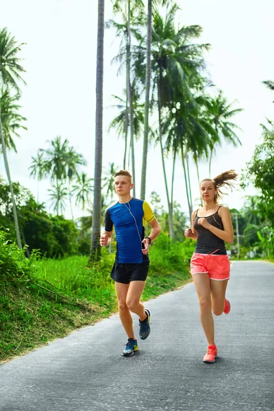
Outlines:
MULTIPOLYGON (((235 108, 244 111, 234 117, 242 129, 238 137, 242 146, 234 148, 223 144, 216 149, 212 175, 235 169, 240 173, 251 160, 256 145, 260 144, 260 123, 266 117, 273 119, 274 104, 271 91, 262 84, 274 80, 274 2, 273 0, 181 0, 177 23, 201 25, 199 42, 210 43, 205 58, 212 82, 223 90, 229 102, 237 100, 235 108)), ((112 18, 112 5, 105 0, 105 20, 112 18)), ((38 149, 49 147, 56 136, 66 138, 82 153, 88 162, 83 171, 94 174, 96 54, 97 54, 97 0, 1 0, 0 28, 8 31, 18 42, 24 42, 21 57, 27 73, 22 86, 21 114, 27 117, 27 131, 16 139, 18 153, 10 152, 8 160, 13 181, 29 188, 37 197, 37 181, 29 177, 32 156, 38 149)), ((123 96, 125 73, 117 76, 112 58, 119 49, 120 40, 113 29, 105 30, 104 84, 103 84, 103 175, 110 162, 117 169, 123 166, 123 140, 108 132, 110 121, 117 111, 112 107, 112 95, 123 96)), ((136 144, 136 197, 140 193, 142 141, 136 144)), ((167 161, 171 181, 171 161, 167 161)), ((201 178, 209 177, 208 162, 200 162, 201 178)), ((175 200, 186 211, 182 163, 178 160, 175 171, 175 200)), ((0 175, 5 176, 0 158, 0 175)), ((190 166, 192 197, 199 197, 195 166, 190 166)), ((49 206, 49 181, 39 185, 39 201, 49 206)), ((164 179, 160 151, 149 147, 147 192, 155 191, 166 207, 164 179)), ((225 197, 230 208, 241 208, 245 195, 255 195, 254 188, 242 192, 236 188, 225 197)), ((82 211, 74 206, 76 217, 82 211)), ((52 211, 52 209, 51 209, 52 211)), ((66 217, 70 218, 69 207, 66 217)))

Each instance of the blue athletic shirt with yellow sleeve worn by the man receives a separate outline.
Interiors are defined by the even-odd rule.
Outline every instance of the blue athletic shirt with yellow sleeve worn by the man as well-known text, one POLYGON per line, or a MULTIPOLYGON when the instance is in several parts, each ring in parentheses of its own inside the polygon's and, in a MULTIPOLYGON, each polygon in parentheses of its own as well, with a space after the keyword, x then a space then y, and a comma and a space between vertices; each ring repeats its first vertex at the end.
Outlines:
POLYGON ((138 263, 149 261, 149 256, 142 253, 141 240, 145 238, 145 221, 155 219, 149 203, 144 200, 131 199, 128 203, 116 203, 105 212, 105 231, 116 233, 116 262, 138 263), (136 223, 132 214, 136 219, 136 223), (137 231, 137 227, 138 231, 137 231), (138 235, 140 234, 140 238, 138 235))

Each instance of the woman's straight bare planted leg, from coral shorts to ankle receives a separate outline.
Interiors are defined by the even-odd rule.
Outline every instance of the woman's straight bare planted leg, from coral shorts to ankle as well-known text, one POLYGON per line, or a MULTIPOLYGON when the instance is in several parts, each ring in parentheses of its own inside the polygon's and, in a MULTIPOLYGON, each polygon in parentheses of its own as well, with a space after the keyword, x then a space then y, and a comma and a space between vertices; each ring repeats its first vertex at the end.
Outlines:
POLYGON ((208 345, 216 345, 214 341, 214 322, 211 312, 210 277, 208 273, 203 273, 192 275, 192 279, 199 298, 201 325, 206 334, 208 345))

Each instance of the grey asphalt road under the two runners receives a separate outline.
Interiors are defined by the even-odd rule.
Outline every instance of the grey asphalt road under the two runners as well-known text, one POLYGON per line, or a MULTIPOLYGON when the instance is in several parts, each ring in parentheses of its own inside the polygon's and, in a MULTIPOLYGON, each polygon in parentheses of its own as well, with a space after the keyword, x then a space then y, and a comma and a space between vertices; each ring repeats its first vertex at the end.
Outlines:
POLYGON ((207 344, 188 284, 146 303, 151 335, 132 357, 121 355, 127 338, 112 316, 1 365, 0 410, 274 410, 273 295, 274 264, 233 263, 214 364, 202 361, 207 344))

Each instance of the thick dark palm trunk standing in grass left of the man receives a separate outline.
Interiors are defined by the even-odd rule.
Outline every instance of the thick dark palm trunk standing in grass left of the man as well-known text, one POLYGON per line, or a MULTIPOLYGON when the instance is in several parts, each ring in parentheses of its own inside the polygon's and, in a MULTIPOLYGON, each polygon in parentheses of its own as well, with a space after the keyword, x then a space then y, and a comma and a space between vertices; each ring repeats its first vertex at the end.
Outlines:
POLYGON ((96 129, 95 129, 95 177, 92 212, 92 240, 90 260, 99 260, 101 248, 101 174, 103 152, 103 36, 104 36, 105 0, 98 0, 97 32, 97 74, 96 74, 96 129))

